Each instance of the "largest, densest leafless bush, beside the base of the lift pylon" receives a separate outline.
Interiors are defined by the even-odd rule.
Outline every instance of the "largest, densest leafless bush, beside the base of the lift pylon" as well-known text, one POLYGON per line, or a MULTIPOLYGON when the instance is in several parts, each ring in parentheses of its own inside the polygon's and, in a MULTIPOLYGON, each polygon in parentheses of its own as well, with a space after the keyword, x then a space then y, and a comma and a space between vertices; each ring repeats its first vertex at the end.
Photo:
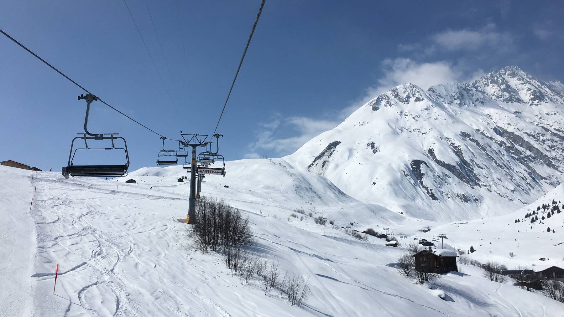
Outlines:
POLYGON ((202 197, 196 203, 197 223, 189 233, 202 252, 245 248, 256 242, 249 218, 220 200, 202 197))

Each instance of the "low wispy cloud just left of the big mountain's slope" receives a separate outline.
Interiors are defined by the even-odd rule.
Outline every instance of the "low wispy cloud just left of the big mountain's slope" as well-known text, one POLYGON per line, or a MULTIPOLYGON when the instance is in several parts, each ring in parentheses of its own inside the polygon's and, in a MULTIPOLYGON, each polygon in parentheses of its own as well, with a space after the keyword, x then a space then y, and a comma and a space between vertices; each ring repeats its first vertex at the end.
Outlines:
POLYGON ((340 123, 340 120, 312 119, 307 117, 277 118, 272 120, 272 122, 259 124, 257 131, 258 140, 250 144, 249 149, 252 151, 262 149, 281 156, 292 154, 305 142, 322 132, 331 130, 338 123, 340 123), (288 134, 287 132, 290 132, 289 136, 280 136, 288 134))

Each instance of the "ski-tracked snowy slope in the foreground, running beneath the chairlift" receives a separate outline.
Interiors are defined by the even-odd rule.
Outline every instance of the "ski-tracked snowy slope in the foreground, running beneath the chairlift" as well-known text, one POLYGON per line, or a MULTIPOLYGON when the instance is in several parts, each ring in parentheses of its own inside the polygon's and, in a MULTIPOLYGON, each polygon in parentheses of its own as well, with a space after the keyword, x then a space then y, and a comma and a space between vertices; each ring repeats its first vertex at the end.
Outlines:
POLYGON ((291 210, 309 206, 308 200, 319 215, 349 213, 336 221, 359 212, 372 217, 367 223, 400 226, 404 216, 363 206, 312 173, 290 171, 289 180, 288 168, 263 161, 229 162, 228 176, 209 176, 202 192, 249 217, 259 255, 310 278, 306 305, 288 305, 276 289, 265 296, 257 282, 241 284, 217 254, 191 247, 186 224, 177 220, 188 206, 187 183, 177 182, 180 167, 140 169, 127 177, 138 184, 125 184, 124 178, 64 180, 49 172, 34 173, 32 182, 29 171, 1 166, 0 210, 9 217, 0 221, 8 233, 0 240, 8 250, 0 271, 11 276, 0 284, 0 307, 8 307, 3 315, 562 316, 561 303, 490 282, 474 267, 443 275, 434 289, 414 284, 392 267, 402 248, 353 240, 310 217, 288 221, 291 210), (296 182, 303 186, 297 195, 296 182))

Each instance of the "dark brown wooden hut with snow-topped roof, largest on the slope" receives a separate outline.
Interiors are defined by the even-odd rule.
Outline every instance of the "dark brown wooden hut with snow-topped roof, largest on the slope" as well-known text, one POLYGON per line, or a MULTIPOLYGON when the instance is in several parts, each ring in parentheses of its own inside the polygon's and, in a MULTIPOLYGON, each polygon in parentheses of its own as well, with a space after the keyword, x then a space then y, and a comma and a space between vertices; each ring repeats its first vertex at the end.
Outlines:
POLYGON ((415 270, 425 273, 448 273, 458 271, 456 266, 456 252, 447 249, 435 249, 429 247, 413 255, 415 257, 415 270))

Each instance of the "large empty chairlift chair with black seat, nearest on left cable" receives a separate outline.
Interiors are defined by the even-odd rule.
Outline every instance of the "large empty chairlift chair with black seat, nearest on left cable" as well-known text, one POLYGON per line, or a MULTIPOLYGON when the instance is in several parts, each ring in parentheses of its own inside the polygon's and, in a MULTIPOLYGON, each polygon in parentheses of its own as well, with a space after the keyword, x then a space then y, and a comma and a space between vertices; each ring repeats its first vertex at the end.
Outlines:
POLYGON ((78 100, 84 99, 86 100, 86 116, 84 119, 84 132, 85 133, 77 133, 80 136, 75 137, 72 142, 70 143, 70 153, 68 159, 68 166, 61 168, 63 172, 63 176, 65 178, 72 177, 119 177, 119 176, 126 176, 127 169, 129 168, 129 153, 127 152, 127 143, 125 139, 121 136, 116 136, 119 133, 100 133, 94 134, 90 133, 87 129, 88 124, 88 116, 90 113, 90 104, 92 101, 99 100, 98 97, 92 95, 91 93, 87 93, 85 95, 78 96, 78 100), (74 141, 77 139, 84 140, 84 148, 74 148, 74 141), (124 141, 123 148, 117 148, 115 145, 115 140, 120 139, 124 141), (111 148, 91 148, 88 145, 88 140, 111 140, 112 147, 111 148), (78 150, 123 150, 125 153, 126 163, 123 165, 75 165, 74 164, 74 156, 76 155, 78 150))

